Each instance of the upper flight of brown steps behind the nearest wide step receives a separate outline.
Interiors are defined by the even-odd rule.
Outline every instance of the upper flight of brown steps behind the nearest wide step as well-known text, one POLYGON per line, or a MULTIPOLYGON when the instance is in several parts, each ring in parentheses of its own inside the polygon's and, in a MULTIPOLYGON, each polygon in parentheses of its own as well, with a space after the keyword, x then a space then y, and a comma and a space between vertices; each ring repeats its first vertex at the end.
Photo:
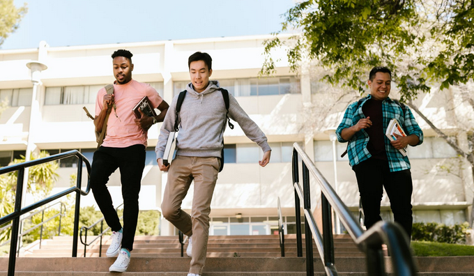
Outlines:
MULTIPOLYGON (((88 237, 93 240, 95 237, 88 237)), ((303 237, 304 238, 304 237, 303 237)), ((335 256, 364 256, 359 252, 348 235, 335 235, 335 256)), ((84 256, 84 245, 78 243, 77 256, 84 256)), ((102 256, 109 247, 109 236, 102 238, 102 256)), ((184 249, 188 244, 185 244, 184 249)), ((313 243, 314 252, 316 245, 313 243)), ((22 252, 26 257, 68 257, 71 256, 72 237, 57 236, 52 240, 43 240, 41 249, 33 245, 22 252)), ((87 247, 87 257, 98 257, 100 241, 96 240, 87 247)), ((177 236, 135 236, 134 257, 178 257, 181 256, 181 245, 177 236)), ((305 254, 303 240, 303 256, 305 254)), ((281 256, 279 236, 209 236, 208 257, 256 257, 281 256)), ((285 256, 297 256, 296 235, 285 236, 285 256)))

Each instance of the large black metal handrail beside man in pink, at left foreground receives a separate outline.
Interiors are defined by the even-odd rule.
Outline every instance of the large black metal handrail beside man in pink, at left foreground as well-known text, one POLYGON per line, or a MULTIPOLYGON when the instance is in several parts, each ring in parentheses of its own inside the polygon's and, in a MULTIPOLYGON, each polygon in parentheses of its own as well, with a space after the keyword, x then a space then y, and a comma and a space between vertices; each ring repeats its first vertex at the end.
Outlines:
MULTIPOLYGON (((31 160, 31 161, 26 161, 22 162, 19 164, 13 164, 7 167, 2 167, 0 168, 0 175, 1 174, 7 174, 9 172, 13 171, 18 171, 17 175, 17 186, 16 186, 16 195, 15 195, 15 210, 13 213, 10 213, 4 217, 0 218, 0 225, 6 224, 8 222, 12 222, 12 233, 11 237, 17 237, 18 232, 20 229, 20 216, 29 213, 31 210, 35 210, 36 208, 40 208, 41 206, 44 206, 46 204, 49 204, 49 202, 55 201, 56 199, 59 199, 61 197, 64 197, 72 192, 76 193, 76 204, 75 204, 75 213, 74 213, 74 233, 73 233, 73 240, 72 240, 72 257, 77 256, 77 236, 79 233, 79 209, 80 209, 80 201, 81 201, 81 195, 87 195, 89 194, 89 191, 91 190, 90 187, 90 178, 91 178, 91 164, 89 163, 89 160, 82 155, 82 153, 79 153, 77 150, 73 151, 67 151, 66 153, 58 153, 56 155, 51 155, 47 156, 45 158, 39 158, 36 160, 31 160), (50 197, 47 197, 46 199, 40 200, 34 204, 31 204, 29 206, 26 206, 22 208, 22 193, 23 193, 23 180, 24 180, 24 170, 28 167, 36 166, 38 164, 43 164, 55 160, 60 160, 63 158, 68 158, 76 156, 77 157, 77 181, 76 181, 76 186, 75 187, 70 187, 63 192, 59 192, 57 194, 54 194, 50 197), (82 185, 82 163, 86 164, 86 169, 87 169, 87 186, 86 190, 81 189, 82 185)), ((28 177, 28 176, 26 176, 28 177)), ((10 256, 8 258, 8 276, 14 276, 15 275, 15 263, 16 263, 16 248, 17 248, 17 238, 12 238, 10 242, 10 256)))

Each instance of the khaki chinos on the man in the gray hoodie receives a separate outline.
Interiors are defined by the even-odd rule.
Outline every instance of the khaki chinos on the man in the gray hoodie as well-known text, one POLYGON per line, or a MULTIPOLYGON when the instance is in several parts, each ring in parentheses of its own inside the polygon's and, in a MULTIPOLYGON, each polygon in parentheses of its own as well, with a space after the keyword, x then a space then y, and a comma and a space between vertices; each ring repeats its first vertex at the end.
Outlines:
POLYGON ((209 213, 220 158, 177 155, 168 171, 168 181, 161 204, 163 216, 186 236, 192 236, 192 259, 189 273, 202 274, 209 237, 209 213), (183 199, 194 180, 191 215, 181 210, 183 199))

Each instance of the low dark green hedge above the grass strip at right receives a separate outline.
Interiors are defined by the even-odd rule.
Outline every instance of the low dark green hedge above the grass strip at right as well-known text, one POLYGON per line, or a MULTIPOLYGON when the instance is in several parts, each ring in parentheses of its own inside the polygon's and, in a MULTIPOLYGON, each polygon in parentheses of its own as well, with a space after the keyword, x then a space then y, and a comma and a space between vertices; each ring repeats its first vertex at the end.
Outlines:
POLYGON ((415 222, 411 231, 412 240, 438 243, 466 243, 468 222, 448 226, 436 222, 415 222))

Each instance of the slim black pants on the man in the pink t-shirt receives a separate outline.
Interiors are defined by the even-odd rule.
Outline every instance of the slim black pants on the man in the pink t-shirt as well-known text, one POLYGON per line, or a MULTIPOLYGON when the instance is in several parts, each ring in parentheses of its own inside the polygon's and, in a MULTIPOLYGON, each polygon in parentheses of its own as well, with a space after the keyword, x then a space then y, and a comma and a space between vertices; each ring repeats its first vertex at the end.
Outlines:
POLYGON ((91 167, 91 190, 105 222, 112 231, 119 231, 122 225, 112 204, 107 189, 109 176, 120 169, 123 197, 123 240, 122 247, 133 250, 133 239, 138 220, 138 194, 145 167, 146 149, 144 145, 128 148, 107 148, 101 146, 94 153, 91 167))

